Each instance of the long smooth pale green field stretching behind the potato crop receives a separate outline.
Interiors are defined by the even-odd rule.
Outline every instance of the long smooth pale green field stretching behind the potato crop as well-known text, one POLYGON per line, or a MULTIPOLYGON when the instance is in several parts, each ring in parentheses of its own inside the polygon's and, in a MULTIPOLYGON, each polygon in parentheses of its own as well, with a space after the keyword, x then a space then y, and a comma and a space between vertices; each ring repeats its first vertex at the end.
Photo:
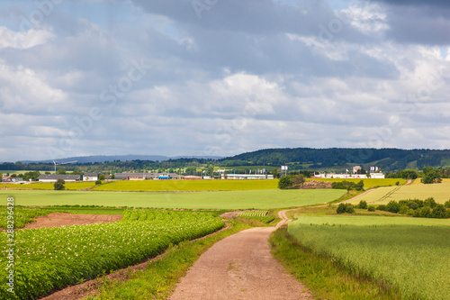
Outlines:
POLYGON ((270 209, 328 203, 346 192, 337 189, 179 193, 0 190, 0 198, 14 196, 15 205, 23 206, 104 205, 186 209, 270 209))

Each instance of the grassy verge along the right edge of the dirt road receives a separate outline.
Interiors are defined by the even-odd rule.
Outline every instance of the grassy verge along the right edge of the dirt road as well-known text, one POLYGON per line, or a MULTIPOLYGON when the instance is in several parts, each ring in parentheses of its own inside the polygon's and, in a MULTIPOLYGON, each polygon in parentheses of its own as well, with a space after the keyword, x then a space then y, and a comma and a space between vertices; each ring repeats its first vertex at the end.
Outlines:
POLYGON ((270 243, 275 259, 317 299, 400 299, 389 286, 353 275, 333 259, 302 247, 285 226, 272 234, 270 243))

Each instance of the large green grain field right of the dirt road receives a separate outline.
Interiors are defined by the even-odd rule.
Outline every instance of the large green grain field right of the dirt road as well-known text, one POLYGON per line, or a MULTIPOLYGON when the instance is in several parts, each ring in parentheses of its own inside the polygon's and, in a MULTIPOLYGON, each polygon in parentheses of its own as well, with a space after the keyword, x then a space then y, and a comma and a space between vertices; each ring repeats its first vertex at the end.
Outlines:
POLYGON ((297 241, 352 272, 381 280, 405 299, 448 299, 450 220, 302 216, 297 241))

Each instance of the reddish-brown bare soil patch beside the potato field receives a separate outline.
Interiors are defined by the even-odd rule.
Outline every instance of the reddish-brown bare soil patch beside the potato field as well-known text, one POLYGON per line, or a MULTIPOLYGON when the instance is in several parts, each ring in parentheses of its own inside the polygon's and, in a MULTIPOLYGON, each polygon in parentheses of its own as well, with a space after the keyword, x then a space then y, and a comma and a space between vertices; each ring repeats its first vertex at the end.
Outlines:
POLYGON ((24 229, 87 225, 93 223, 110 223, 119 220, 121 220, 120 214, 110 215, 110 214, 51 213, 46 216, 37 217, 36 222, 25 224, 24 229))

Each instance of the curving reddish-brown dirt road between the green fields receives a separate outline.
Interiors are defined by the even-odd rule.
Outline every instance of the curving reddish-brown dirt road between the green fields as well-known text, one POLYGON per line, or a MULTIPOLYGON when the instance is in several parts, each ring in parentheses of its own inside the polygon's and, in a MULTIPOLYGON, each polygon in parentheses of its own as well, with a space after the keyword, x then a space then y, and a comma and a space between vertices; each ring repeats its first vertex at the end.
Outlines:
POLYGON ((276 227, 256 227, 215 243, 175 288, 171 300, 313 299, 311 293, 272 257, 268 239, 289 223, 287 210, 276 227))

